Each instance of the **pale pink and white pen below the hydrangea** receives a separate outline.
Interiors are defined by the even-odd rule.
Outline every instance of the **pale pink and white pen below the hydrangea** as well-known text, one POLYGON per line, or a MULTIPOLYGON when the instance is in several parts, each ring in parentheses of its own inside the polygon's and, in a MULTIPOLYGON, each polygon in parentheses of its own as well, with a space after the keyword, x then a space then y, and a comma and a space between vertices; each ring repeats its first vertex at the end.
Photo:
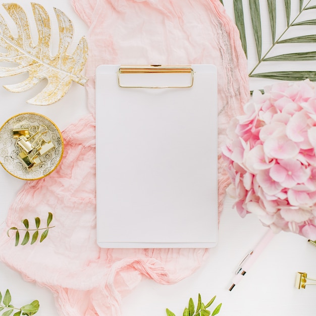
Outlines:
POLYGON ((244 277, 246 272, 249 271, 255 259, 260 255, 260 253, 266 248, 270 240, 275 236, 271 229, 262 237, 257 246, 251 250, 246 257, 240 262, 238 269, 235 272, 235 277, 232 280, 232 285, 229 288, 231 291, 244 277))

